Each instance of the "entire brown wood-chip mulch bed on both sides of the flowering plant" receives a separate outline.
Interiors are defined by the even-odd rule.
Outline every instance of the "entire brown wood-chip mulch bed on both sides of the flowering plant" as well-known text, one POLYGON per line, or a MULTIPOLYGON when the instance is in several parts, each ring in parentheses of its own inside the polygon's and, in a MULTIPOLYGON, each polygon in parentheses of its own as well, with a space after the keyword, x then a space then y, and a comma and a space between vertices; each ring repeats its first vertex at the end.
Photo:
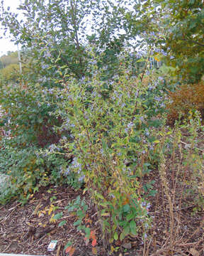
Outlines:
MULTIPOLYGON (((162 190, 158 171, 152 171, 151 176, 144 178, 143 182, 146 182, 145 179, 149 179, 149 181, 154 179, 156 181, 154 189, 157 190, 156 196, 149 198, 151 203, 149 215, 152 216, 152 227, 147 234, 147 241, 144 243, 139 236, 135 239, 126 238, 123 244, 118 241, 115 244, 119 247, 118 252, 112 255, 204 255, 203 213, 193 213, 193 207, 195 207, 193 205, 174 208, 174 247, 169 247, 170 238, 172 238, 172 234, 169 233, 169 206, 162 190), (128 248, 125 248, 124 245, 128 245, 128 248)), ((74 256, 93 255, 91 243, 86 246, 84 234, 77 231, 73 225, 76 217, 64 210, 64 207, 79 195, 81 198, 86 198, 86 203, 89 206, 87 218, 89 218, 91 230, 96 230, 98 255, 111 255, 103 248, 97 215, 88 194, 83 195, 82 190, 74 191, 66 186, 42 187, 33 194, 24 206, 21 206, 18 201, 0 206, 0 252, 68 255, 64 252, 64 245, 68 241, 72 241, 75 247, 74 256), (52 213, 54 213, 54 211, 49 213, 51 205, 55 206, 55 214, 63 212, 63 220, 67 220, 67 223, 62 227, 58 226, 61 220, 50 221, 52 213), (51 240, 58 241, 57 247, 55 251, 48 252, 47 247, 51 240)))

